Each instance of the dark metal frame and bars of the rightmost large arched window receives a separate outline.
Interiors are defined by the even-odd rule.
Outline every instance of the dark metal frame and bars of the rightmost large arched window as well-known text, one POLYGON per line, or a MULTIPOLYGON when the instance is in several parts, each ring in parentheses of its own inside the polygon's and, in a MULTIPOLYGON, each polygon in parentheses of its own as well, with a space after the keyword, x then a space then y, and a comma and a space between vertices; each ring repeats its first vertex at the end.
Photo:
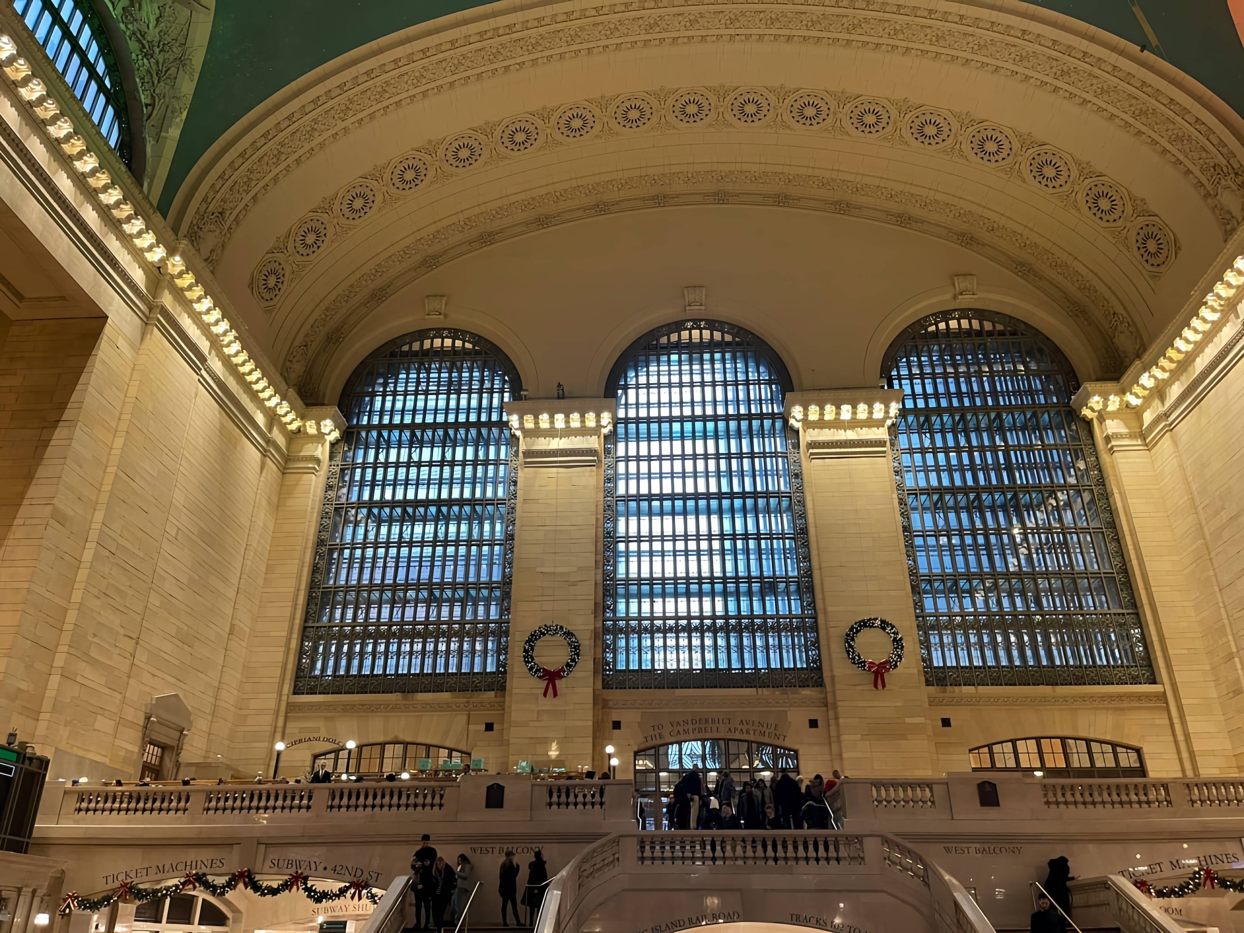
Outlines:
MULTIPOLYGON (((937 342, 940 335, 935 333, 931 337, 929 333, 938 327, 944 327, 947 332, 949 332, 952 322, 955 321, 986 322, 989 328, 996 328, 999 331, 995 341, 1008 340, 1030 342, 1035 348, 1034 352, 1037 357, 1044 355, 1045 362, 1047 363, 1045 369, 1037 367, 1036 372, 1039 374, 1044 372, 1051 377, 1047 379, 1047 384, 1042 387, 1042 391, 1046 392, 1046 394, 1050 394, 1050 387, 1056 384, 1059 379, 1064 379, 1066 384, 1066 398, 1057 403, 1050 401, 1025 399, 1020 403, 1006 407, 943 406, 938 408, 914 407, 912 404, 913 399, 904 398, 903 411, 899 413, 894 424, 891 425, 892 465, 894 483, 898 490, 903 540, 907 547, 912 600, 916 608, 917 628, 921 639, 921 659, 924 664, 926 684, 931 687, 967 687, 1154 683, 1156 675, 1148 653, 1148 643, 1143 622, 1132 591, 1131 575, 1125 560, 1122 541, 1115 525, 1113 511, 1106 490, 1101 464, 1097 458, 1097 449, 1093 442, 1092 430, 1075 414, 1070 407, 1071 396, 1075 394, 1079 388, 1079 381, 1076 378, 1075 369, 1059 347, 1031 325, 1008 315, 978 309, 940 311, 922 317, 894 338, 882 361, 882 378, 884 384, 892 388, 902 388, 902 386, 898 384, 899 378, 896 364, 899 356, 908 348, 908 345, 916 343, 922 338, 929 343, 937 342), (953 415, 965 414, 975 414, 978 417, 998 415, 1004 420, 1008 417, 1011 418, 1010 427, 1014 427, 1014 423, 1018 422, 1019 417, 1028 415, 1034 412, 1036 414, 1034 415, 1034 420, 1029 422, 1029 427, 1033 424, 1044 424, 1044 422, 1040 420, 1041 415, 1047 415, 1050 418, 1050 423, 1052 424, 1055 415, 1057 415, 1057 419, 1069 425, 1067 430, 1074 432, 1075 437, 1069 440, 1067 444, 1069 449, 1076 448, 1084 452, 1084 463, 1076 464, 1076 469, 1084 474, 1082 480, 1074 484, 1008 481, 1000 481, 991 485, 968 484, 955 486, 957 490, 960 490, 958 493, 952 493, 943 485, 908 489, 908 484, 904 479, 904 473, 908 468, 908 464, 904 463, 904 457, 908 454, 908 450, 903 447, 903 440, 908 427, 914 419, 924 415, 926 418, 929 418, 932 425, 932 419, 937 418, 939 413, 948 419, 953 415), (1086 525, 1085 529, 1080 529, 1080 526, 1076 525, 1076 530, 1084 531, 1086 535, 1090 531, 1101 535, 1103 550, 1108 554, 1110 567, 1107 571, 1095 570, 1092 573, 1088 571, 1082 571, 1082 573, 1086 580, 1105 581, 1102 582, 1102 586, 1107 587, 1107 592, 1110 592, 1108 587, 1110 581, 1112 580, 1117 585, 1117 608, 999 608, 986 612, 978 611, 975 608, 970 611, 964 611, 962 608, 952 610, 948 605, 948 608, 944 611, 928 611, 926 607, 923 583, 926 580, 932 581, 931 586, 934 587, 935 592, 938 581, 934 578, 932 570, 922 572, 921 555, 916 542, 912 516, 912 499, 928 499, 931 503, 929 509, 932 510, 937 508, 933 505, 934 500, 949 500, 957 495, 963 495, 963 490, 967 490, 968 495, 983 495, 984 493, 980 493, 979 490, 984 490, 985 493, 991 490, 996 501, 1001 503, 1003 499, 1010 494, 1016 494, 1020 499, 1023 499, 1021 494, 1025 491, 1031 494, 1034 490, 1042 486, 1047 491, 1054 491, 1055 494, 1062 490, 1072 490, 1080 494, 1085 503, 1088 503, 1095 508, 1098 519, 1097 524, 1086 525), (953 656, 959 663, 939 663, 944 662, 948 656, 953 656), (1005 657, 1009 659, 1009 663, 993 663, 989 661, 990 656, 995 659, 1005 657), (1059 658, 1067 657, 1072 657, 1074 661, 1084 661, 1085 658, 1096 659, 1098 663, 1085 664, 1074 663, 1074 661, 1059 661, 1059 658), (1100 663, 1102 657, 1106 657, 1107 661, 1117 659, 1117 662, 1100 663)), ((973 336, 970 331, 974 330, 975 328, 969 326, 964 328, 964 331, 969 331, 965 338, 960 338, 958 335, 953 338, 947 336, 942 340, 942 342, 949 343, 953 342, 953 340, 978 340, 983 343, 988 342, 985 337, 982 336, 986 328, 982 327, 980 333, 973 336)), ((954 357, 949 357, 952 361, 953 358, 954 357)), ((947 357, 942 358, 942 367, 948 364, 945 360, 947 357)), ((1014 356, 1011 356, 1010 360, 1014 360, 1014 356)), ((973 369, 973 372, 980 373, 990 371, 988 368, 980 369, 978 367, 973 369)), ((1015 371, 1004 369, 1001 372, 1006 376, 1013 374, 1013 372, 1030 374, 1033 371, 1030 368, 1024 368, 1015 371)), ((917 376, 929 378, 935 374, 937 371, 934 367, 929 373, 918 373, 917 376)), ((1020 383, 1023 383, 1023 379, 1015 379, 1015 386, 1019 386, 1020 383)), ((973 386, 973 392, 975 392, 975 386, 973 386)), ((1009 387, 1008 392, 1021 394, 1023 389, 1009 387)), ((1005 449, 1005 444, 1003 443, 995 443, 993 445, 986 443, 975 448, 968 445, 963 449, 954 447, 938 448, 932 440, 934 433, 935 432, 933 432, 931 427, 931 432, 928 434, 929 442, 926 445, 926 449, 932 453, 942 452, 954 453, 957 455, 962 454, 964 455, 964 459, 967 459, 968 454, 977 453, 982 455, 984 462, 988 462, 988 455, 990 453, 1005 449)), ((1036 447, 1040 447, 1040 444, 1033 447, 1035 450, 1036 447)), ((943 466, 939 465, 938 469, 940 470, 943 466)), ((1006 505, 1009 506, 1010 503, 1006 503, 1006 505)), ((972 511, 972 509, 967 506, 960 508, 959 505, 955 505, 955 510, 957 513, 963 514, 972 511)), ((1090 509, 1090 511, 1092 510, 1090 509)), ((927 513, 922 511, 922 518, 927 513)), ((949 514, 949 511, 947 514, 949 514)), ((950 525, 948 524, 944 527, 949 529, 950 525)), ((1054 524, 1045 527, 1039 525, 1025 525, 1023 531, 1028 532, 1030 527, 1034 529, 1034 537, 1037 542, 1040 542, 1041 534, 1047 530, 1052 530, 1056 526, 1054 524)), ((1057 527, 1061 529, 1062 526, 1057 527)), ((967 530, 978 532, 977 537, 984 539, 988 536, 985 532, 990 529, 986 526, 973 525, 967 530)), ((980 545, 979 541, 978 544, 972 545, 968 541, 972 535, 957 534, 943 535, 943 537, 954 537, 955 542, 947 545, 947 552, 954 554, 955 556, 959 555, 960 550, 969 552, 967 559, 968 562, 973 559, 983 559, 985 556, 996 559, 999 556, 996 551, 980 545)), ((1055 537, 1056 535, 1050 531, 1049 539, 1052 541, 1055 537)), ((1065 537, 1070 536, 1067 535, 1065 537)), ((1042 560, 1049 560, 1050 556, 1056 552, 1056 546, 1037 549, 1037 554, 1042 560)), ((980 562, 984 564, 985 561, 980 560, 980 562)), ((958 586, 958 597, 955 598, 959 600, 963 600, 963 593, 967 592, 963 588, 965 578, 972 577, 993 585, 994 590, 990 592, 1005 593, 1005 598, 1008 600, 1014 600, 1016 598, 1016 593, 1023 592, 1024 600, 1029 601, 1030 606, 1031 595, 1029 592, 1029 581, 1021 580, 1025 573, 1036 581, 1040 581, 1044 575, 1051 581, 1060 581, 1057 583, 1059 586, 1066 587, 1066 582, 1064 581, 1075 581, 1079 586, 1080 581, 1077 573, 1080 572, 1081 571, 1075 569, 1056 571, 949 570, 940 572, 939 576, 944 577, 944 580, 942 580, 943 583, 950 581, 950 577, 962 577, 950 581, 958 586)), ((1049 586, 1052 592, 1055 583, 1049 583, 1049 586)), ((1091 586, 1091 582, 1086 586, 1091 586)), ((1070 590, 1065 591, 1071 592, 1070 590)), ((944 590, 943 592, 950 593, 952 591, 944 590)), ((1075 595, 1082 598, 1082 592, 1084 590, 1075 595)))

